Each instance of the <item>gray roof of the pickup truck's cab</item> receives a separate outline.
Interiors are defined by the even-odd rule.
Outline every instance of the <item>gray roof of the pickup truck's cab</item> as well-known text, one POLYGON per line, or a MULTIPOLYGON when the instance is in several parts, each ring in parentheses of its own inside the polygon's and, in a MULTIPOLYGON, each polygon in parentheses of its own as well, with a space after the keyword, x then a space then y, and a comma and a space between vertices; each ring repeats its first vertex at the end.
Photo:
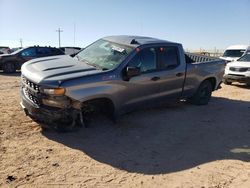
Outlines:
POLYGON ((144 44, 159 44, 159 43, 180 45, 179 43, 170 42, 167 40, 161 40, 157 38, 144 37, 144 36, 116 35, 116 36, 107 36, 102 39, 133 47, 137 47, 144 44))

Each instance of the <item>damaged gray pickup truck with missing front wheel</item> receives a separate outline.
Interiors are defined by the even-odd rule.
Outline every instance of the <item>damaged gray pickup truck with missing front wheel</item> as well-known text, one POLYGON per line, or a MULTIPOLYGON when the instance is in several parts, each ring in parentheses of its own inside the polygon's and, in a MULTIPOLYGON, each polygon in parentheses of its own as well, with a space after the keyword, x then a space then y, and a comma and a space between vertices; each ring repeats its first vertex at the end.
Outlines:
POLYGON ((184 53, 182 45, 139 36, 104 37, 74 58, 53 56, 22 66, 21 106, 56 129, 83 125, 92 111, 119 115, 167 100, 205 105, 225 62, 184 53))

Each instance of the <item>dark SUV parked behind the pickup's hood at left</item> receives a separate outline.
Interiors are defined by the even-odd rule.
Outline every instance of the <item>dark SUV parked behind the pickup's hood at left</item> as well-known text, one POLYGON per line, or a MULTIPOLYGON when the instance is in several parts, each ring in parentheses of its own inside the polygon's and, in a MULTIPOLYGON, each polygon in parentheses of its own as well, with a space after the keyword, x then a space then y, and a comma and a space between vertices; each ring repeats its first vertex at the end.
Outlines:
POLYGON ((19 49, 11 54, 0 55, 0 70, 5 73, 14 73, 20 70, 22 64, 28 60, 54 55, 64 55, 64 52, 57 48, 41 46, 19 49))

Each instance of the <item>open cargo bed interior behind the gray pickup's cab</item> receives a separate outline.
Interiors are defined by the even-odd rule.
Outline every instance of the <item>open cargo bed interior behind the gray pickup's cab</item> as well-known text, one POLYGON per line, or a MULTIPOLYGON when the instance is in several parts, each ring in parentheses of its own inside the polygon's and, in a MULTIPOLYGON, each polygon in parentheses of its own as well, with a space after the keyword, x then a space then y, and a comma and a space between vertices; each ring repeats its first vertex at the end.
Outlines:
POLYGON ((219 58, 210 57, 206 55, 194 54, 194 53, 185 53, 186 63, 200 63, 200 62, 209 62, 209 61, 218 61, 219 58))

